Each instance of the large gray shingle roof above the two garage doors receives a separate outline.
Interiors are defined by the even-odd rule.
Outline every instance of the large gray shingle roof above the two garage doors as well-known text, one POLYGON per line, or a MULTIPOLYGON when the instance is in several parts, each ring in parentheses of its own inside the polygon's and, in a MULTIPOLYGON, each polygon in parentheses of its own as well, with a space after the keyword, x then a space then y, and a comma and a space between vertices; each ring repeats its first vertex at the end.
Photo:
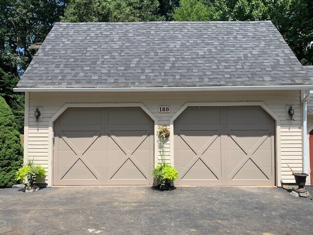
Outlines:
POLYGON ((17 87, 312 85, 261 22, 56 23, 17 87))

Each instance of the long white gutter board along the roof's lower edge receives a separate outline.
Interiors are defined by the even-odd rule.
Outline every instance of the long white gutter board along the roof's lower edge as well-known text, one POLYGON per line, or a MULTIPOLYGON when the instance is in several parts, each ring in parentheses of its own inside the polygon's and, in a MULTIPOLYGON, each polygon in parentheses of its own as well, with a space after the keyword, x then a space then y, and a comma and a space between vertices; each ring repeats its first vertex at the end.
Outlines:
POLYGON ((195 91, 266 91, 310 90, 313 85, 299 86, 223 86, 223 87, 47 87, 14 88, 14 92, 195 92, 195 91))

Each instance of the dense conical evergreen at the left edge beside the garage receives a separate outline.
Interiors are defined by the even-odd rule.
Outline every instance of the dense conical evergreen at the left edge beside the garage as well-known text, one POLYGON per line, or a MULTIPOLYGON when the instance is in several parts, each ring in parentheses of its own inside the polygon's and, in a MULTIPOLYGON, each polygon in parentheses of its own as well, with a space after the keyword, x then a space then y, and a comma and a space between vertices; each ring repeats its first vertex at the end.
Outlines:
POLYGON ((11 187, 22 164, 22 145, 10 107, 0 96, 0 188, 11 187))

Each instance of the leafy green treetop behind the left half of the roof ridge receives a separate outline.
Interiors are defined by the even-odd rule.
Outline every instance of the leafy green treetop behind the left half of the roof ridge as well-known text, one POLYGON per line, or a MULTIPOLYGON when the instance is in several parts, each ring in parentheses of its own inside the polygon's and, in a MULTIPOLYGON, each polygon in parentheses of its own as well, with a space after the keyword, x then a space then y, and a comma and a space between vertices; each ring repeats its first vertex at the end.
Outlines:
POLYGON ((157 0, 70 0, 63 22, 139 22, 165 20, 157 0))

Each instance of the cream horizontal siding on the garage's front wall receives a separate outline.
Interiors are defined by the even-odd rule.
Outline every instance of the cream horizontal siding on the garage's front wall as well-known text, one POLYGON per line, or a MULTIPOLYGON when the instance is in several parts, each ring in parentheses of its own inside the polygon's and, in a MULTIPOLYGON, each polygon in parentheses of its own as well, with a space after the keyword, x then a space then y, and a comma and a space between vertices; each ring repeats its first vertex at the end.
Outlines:
MULTIPOLYGON (((281 177, 283 183, 294 178, 286 163, 302 171, 301 105, 300 91, 227 91, 227 92, 137 92, 137 93, 30 93, 28 158, 48 169, 48 122, 66 103, 143 103, 156 116, 159 125, 170 125, 170 119, 186 102, 264 102, 280 118, 281 123, 281 177), (286 105, 295 110, 294 121, 286 118, 286 105), (170 106, 170 113, 158 113, 159 106, 170 106), (43 120, 36 124, 34 112, 43 107, 43 120)), ((170 140, 164 144, 169 159, 170 140)), ((279 156, 276 156, 279 157, 279 156)), ((50 174, 50 172, 47 172, 50 174)))

